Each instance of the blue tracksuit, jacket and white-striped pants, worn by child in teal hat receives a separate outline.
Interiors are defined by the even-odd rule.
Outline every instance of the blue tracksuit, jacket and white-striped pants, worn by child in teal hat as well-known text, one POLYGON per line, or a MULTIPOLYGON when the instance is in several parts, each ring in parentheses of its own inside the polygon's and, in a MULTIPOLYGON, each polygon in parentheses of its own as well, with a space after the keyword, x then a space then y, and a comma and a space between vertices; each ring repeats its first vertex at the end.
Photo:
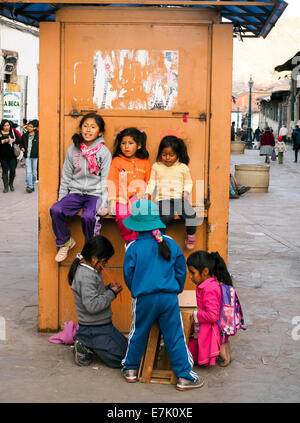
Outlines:
POLYGON ((123 273, 132 296, 132 324, 128 348, 122 360, 123 369, 138 369, 147 338, 154 321, 158 321, 177 377, 198 378, 193 372, 178 305, 178 293, 183 291, 186 262, 177 243, 163 235, 171 251, 166 261, 158 253, 158 243, 150 231, 140 232, 127 247, 123 273))

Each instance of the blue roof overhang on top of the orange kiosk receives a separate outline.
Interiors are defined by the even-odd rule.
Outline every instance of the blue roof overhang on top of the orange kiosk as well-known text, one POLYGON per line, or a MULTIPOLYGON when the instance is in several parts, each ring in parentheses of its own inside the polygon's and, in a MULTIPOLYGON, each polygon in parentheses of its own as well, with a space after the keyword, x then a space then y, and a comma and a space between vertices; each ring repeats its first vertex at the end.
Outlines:
POLYGON ((55 12, 67 6, 157 6, 209 8, 220 13, 221 21, 234 24, 235 34, 242 37, 266 37, 287 7, 284 0, 2 0, 0 15, 27 25, 38 26, 39 22, 54 21, 55 12))

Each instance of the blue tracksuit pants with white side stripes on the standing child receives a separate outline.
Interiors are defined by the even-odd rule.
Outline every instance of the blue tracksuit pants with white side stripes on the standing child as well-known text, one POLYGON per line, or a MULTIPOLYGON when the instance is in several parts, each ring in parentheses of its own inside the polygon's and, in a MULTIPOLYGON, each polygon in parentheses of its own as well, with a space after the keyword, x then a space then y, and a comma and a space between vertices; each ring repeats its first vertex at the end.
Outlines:
POLYGON ((122 360, 123 370, 138 369, 155 320, 159 323, 176 376, 198 379, 192 370, 194 362, 185 342, 176 293, 160 292, 132 299, 132 324, 127 352, 122 360))

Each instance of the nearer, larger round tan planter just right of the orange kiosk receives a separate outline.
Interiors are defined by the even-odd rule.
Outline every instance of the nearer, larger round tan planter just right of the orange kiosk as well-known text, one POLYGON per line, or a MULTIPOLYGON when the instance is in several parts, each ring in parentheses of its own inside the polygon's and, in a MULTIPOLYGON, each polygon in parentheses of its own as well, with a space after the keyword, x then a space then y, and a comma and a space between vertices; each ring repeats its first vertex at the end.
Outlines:
POLYGON ((241 185, 251 187, 248 192, 268 192, 270 166, 235 165, 235 177, 241 185))

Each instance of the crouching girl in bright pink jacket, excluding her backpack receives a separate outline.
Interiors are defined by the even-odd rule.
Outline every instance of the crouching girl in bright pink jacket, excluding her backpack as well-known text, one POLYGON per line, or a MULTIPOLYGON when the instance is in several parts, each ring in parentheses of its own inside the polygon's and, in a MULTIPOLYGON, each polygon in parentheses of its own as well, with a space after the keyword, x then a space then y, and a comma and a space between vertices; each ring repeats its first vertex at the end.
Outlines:
POLYGON ((226 264, 218 252, 199 250, 188 257, 187 265, 192 282, 197 286, 197 310, 194 311, 189 350, 195 364, 214 366, 220 356, 220 365, 228 366, 232 360, 230 344, 228 337, 223 341, 217 324, 221 307, 220 282, 232 285, 226 264))

